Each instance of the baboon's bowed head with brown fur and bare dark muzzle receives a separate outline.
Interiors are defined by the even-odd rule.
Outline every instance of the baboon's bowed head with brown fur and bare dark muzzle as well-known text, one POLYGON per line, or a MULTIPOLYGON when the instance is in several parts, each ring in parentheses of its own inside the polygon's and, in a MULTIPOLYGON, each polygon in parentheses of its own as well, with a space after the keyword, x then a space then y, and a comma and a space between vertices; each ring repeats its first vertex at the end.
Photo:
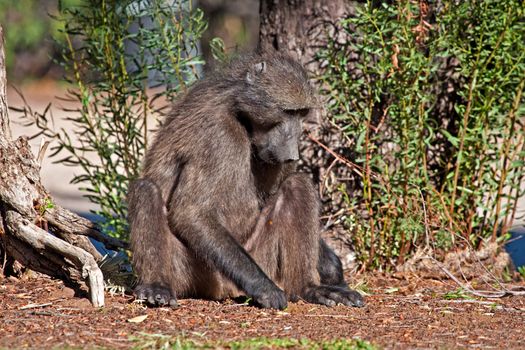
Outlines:
POLYGON ((252 56, 233 68, 242 79, 234 96, 238 120, 265 163, 299 159, 302 121, 318 108, 315 90, 304 68, 278 54, 252 56))

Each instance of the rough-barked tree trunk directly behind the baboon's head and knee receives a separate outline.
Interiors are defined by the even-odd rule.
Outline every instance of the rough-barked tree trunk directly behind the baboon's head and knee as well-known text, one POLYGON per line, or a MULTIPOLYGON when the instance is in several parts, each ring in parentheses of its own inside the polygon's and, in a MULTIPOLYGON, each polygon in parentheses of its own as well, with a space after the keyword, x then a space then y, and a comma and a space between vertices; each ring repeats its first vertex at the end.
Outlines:
MULTIPOLYGON (((321 73, 315 55, 328 40, 346 41, 340 30, 342 19, 354 13, 357 1, 348 0, 261 0, 259 46, 275 49, 299 60, 316 77, 321 73)), ((351 169, 333 157, 347 152, 342 132, 331 124, 325 111, 316 125, 306 125, 308 138, 301 144, 303 170, 311 172, 320 184, 326 232, 323 236, 337 251, 345 268, 354 260, 350 238, 338 222, 344 213, 344 199, 338 186, 340 179, 352 178, 351 169)))

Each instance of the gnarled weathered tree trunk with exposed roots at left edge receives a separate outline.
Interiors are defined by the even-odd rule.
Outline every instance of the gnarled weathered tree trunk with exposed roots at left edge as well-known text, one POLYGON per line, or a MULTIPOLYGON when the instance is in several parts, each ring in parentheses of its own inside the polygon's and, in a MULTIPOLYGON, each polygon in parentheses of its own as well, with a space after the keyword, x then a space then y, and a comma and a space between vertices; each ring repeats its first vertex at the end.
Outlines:
POLYGON ((11 139, 2 34, 0 27, 0 261, 6 255, 87 289, 93 305, 103 306, 104 281, 97 265, 102 256, 89 237, 108 248, 125 245, 105 236, 89 220, 54 205, 40 182, 40 165, 27 140, 11 139))

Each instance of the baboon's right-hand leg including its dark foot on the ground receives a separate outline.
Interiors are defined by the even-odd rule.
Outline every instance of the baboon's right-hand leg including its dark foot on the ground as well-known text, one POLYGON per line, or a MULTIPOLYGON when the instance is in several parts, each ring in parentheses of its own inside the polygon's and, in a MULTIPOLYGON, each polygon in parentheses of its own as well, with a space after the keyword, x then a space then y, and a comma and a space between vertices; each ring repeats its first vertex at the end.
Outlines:
POLYGON ((340 261, 320 239, 319 202, 305 174, 290 175, 281 184, 263 208, 246 249, 291 300, 363 305, 359 293, 340 286, 340 261), (331 265, 319 268, 327 260, 331 265))

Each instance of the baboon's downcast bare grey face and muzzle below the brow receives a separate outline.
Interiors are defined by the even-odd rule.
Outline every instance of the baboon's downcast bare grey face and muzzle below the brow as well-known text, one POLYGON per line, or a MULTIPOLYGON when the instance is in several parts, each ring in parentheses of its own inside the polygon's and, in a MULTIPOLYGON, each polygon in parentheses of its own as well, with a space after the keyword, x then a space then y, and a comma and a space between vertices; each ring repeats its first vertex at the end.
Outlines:
POLYGON ((280 122, 271 125, 254 125, 252 144, 257 157, 265 163, 288 163, 299 160, 299 137, 302 119, 308 109, 283 112, 280 122))

